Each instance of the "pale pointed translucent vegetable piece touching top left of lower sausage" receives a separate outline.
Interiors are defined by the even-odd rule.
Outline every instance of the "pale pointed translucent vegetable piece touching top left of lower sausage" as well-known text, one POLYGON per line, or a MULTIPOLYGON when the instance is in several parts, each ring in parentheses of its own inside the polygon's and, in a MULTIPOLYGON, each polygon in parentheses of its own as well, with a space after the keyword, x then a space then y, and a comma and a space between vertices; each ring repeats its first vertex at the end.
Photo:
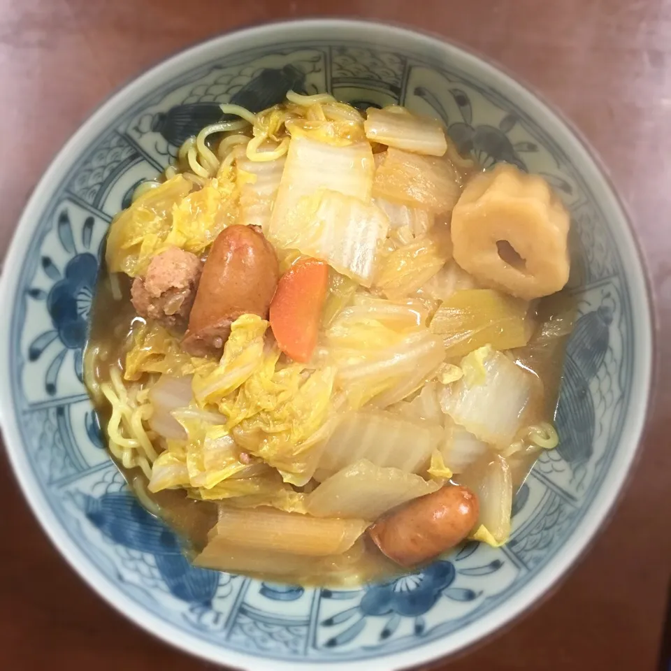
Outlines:
POLYGON ((355 517, 374 521, 387 510, 440 488, 398 468, 380 468, 366 459, 339 470, 308 495, 315 517, 355 517))

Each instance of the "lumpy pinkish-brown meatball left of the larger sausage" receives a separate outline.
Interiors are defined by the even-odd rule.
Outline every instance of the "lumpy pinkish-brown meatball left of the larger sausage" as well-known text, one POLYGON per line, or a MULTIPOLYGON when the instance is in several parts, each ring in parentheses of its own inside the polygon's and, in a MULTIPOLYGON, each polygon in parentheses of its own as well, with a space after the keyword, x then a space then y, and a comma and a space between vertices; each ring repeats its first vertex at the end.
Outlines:
POLYGON ((145 277, 136 277, 131 287, 138 315, 170 329, 183 328, 194 304, 201 268, 198 257, 178 247, 157 254, 145 277))

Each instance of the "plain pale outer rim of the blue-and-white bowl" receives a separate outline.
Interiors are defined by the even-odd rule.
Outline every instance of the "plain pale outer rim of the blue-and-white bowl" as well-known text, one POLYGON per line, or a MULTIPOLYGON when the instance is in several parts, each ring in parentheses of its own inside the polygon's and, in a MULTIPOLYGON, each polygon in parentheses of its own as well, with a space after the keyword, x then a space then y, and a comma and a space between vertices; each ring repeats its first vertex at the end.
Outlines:
MULTIPOLYGON (((566 149, 567 153, 579 157, 580 160, 576 161, 578 164, 591 164, 593 168, 596 168, 596 177, 600 178, 603 182, 600 185, 600 187, 603 187, 602 198, 611 201, 611 205, 616 210, 619 210, 621 219, 626 224, 620 232, 625 236, 626 243, 633 248, 633 254, 638 262, 637 268, 635 268, 630 277, 630 280, 635 281, 635 286, 631 286, 631 291, 637 296, 640 294, 645 296, 645 301, 642 301, 642 304, 632 308, 642 312, 643 317, 642 323, 635 324, 635 328, 641 331, 641 333, 637 333, 641 338, 641 342, 636 354, 637 359, 640 359, 637 362, 638 377, 640 380, 637 381, 635 387, 640 388, 643 395, 639 396, 637 401, 632 403, 628 424, 624 426, 626 431, 623 431, 619 439, 619 445, 623 445, 625 438, 629 438, 630 441, 627 445, 631 446, 619 450, 622 454, 618 455, 619 459, 616 456, 612 462, 609 473, 600 484, 600 491, 598 491, 595 498, 591 501, 590 514, 586 515, 573 531, 570 546, 564 547, 550 558, 542 571, 531 579, 528 584, 522 586, 520 591, 510 600, 511 603, 503 611, 494 609, 485 614, 481 620, 472 623, 472 625, 464 630, 465 635, 463 635, 462 640, 459 640, 456 644, 445 646, 442 640, 434 640, 433 642, 420 643, 416 647, 400 652, 385 653, 384 649, 382 649, 380 656, 376 658, 353 661, 322 660, 308 657, 294 661, 280 661, 275 658, 259 657, 255 654, 205 642, 182 628, 161 620, 150 612, 145 612, 142 606, 119 591, 113 581, 99 573, 92 561, 82 554, 80 549, 75 547, 75 544, 68 538, 65 528, 62 527, 61 522, 50 507, 45 494, 38 486, 35 486, 38 483, 31 473, 27 451, 24 449, 17 426, 17 409, 15 408, 10 387, 5 380, 0 384, 0 426, 3 430, 10 464, 24 497, 29 503, 34 516, 41 524, 43 531, 57 548, 59 554, 66 559, 75 572, 103 600, 106 600, 117 612, 126 616, 137 626, 147 631, 147 633, 194 656, 215 663, 226 663, 226 665, 232 665, 236 668, 254 668, 259 671, 293 671, 296 663, 320 663, 328 664, 331 669, 342 671, 368 671, 370 669, 391 671, 405 668, 409 665, 426 663, 442 656, 463 651, 466 647, 484 640, 494 631, 512 623, 519 614, 537 604, 551 589, 556 588, 558 581, 565 577, 568 570, 575 565, 577 558, 589 547, 589 544, 596 537, 598 529, 612 512, 614 504, 623 489, 628 472, 637 454, 640 452, 638 445, 642 438, 647 412, 651 407, 650 397, 653 382, 652 361, 655 324, 652 293, 650 290, 651 284, 640 245, 633 232, 632 219, 619 194, 616 192, 607 169, 584 136, 551 103, 548 103, 542 96, 537 94, 533 87, 522 83, 517 75, 511 75, 505 68, 493 62, 488 57, 479 55, 470 48, 466 48, 442 36, 429 34, 425 31, 399 24, 331 17, 304 18, 266 22, 218 34, 205 41, 189 45, 187 48, 161 59, 153 66, 150 66, 150 68, 127 80, 104 99, 87 119, 80 124, 77 131, 75 131, 54 159, 52 159, 34 188, 27 205, 24 207, 3 264, 3 272, 0 277, 0 293, 3 296, 12 296, 13 306, 20 268, 25 252, 27 252, 33 224, 39 220, 38 215, 43 210, 41 203, 48 200, 45 196, 51 195, 53 185, 57 184, 59 179, 62 178, 62 168, 65 168, 70 162, 69 157, 71 154, 78 154, 78 150, 81 150, 94 140, 96 133, 99 131, 99 126, 101 124, 104 125, 106 118, 114 115, 115 106, 123 108, 124 106, 121 103, 124 99, 127 97, 134 99, 138 92, 145 85, 149 85, 153 78, 157 77, 161 71, 168 70, 171 66, 178 66, 185 59, 194 59, 194 62, 197 63, 199 62, 199 55, 201 53, 208 52, 208 50, 211 50, 216 45, 221 44, 224 50, 229 50, 231 48, 230 45, 227 45, 229 41, 243 41, 245 38, 259 38, 264 35, 272 36, 277 31, 281 32, 285 29, 303 31, 305 36, 308 37, 310 30, 317 28, 322 30, 352 31, 352 33, 359 36, 361 41, 366 41, 366 36, 362 34, 363 31, 368 31, 369 34, 371 31, 383 31, 390 36, 396 34, 407 41, 414 41, 418 44, 424 42, 424 44, 428 44, 433 50, 445 52, 447 55, 450 52, 453 54, 456 53, 461 59, 475 68, 479 68, 480 71, 488 71, 490 75, 503 79, 507 89, 514 92, 516 96, 519 96, 519 99, 524 101, 525 105, 535 108, 537 113, 554 122, 554 125, 561 131, 568 145, 570 145, 570 148, 566 149), (627 434, 626 436, 625 433, 627 434)), ((352 36, 352 39, 354 39, 354 36, 352 36)), ((7 320, 7 323, 3 324, 0 329, 0 356, 3 356, 3 363, 7 365, 8 357, 11 355, 9 338, 10 322, 11 320, 7 320)), ((634 371, 634 377, 636 377, 636 371, 634 371)))

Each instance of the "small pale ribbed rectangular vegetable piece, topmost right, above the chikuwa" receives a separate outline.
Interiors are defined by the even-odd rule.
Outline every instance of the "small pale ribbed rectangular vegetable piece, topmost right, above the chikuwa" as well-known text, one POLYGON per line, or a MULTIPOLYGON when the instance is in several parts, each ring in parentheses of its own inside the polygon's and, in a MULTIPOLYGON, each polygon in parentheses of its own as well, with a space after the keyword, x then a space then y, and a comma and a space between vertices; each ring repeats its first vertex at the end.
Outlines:
POLYGON ((368 108, 363 129, 368 140, 408 152, 442 156, 447 151, 445 131, 440 123, 408 112, 368 108))

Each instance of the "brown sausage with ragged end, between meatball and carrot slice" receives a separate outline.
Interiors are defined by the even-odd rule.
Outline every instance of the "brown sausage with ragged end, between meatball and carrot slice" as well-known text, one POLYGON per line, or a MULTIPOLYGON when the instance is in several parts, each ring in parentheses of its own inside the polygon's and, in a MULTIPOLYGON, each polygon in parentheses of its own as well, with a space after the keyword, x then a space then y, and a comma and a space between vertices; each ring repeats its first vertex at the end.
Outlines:
POLYGON ((220 354, 240 315, 268 319, 279 266, 259 226, 229 226, 219 233, 203 266, 182 347, 194 356, 220 354))

